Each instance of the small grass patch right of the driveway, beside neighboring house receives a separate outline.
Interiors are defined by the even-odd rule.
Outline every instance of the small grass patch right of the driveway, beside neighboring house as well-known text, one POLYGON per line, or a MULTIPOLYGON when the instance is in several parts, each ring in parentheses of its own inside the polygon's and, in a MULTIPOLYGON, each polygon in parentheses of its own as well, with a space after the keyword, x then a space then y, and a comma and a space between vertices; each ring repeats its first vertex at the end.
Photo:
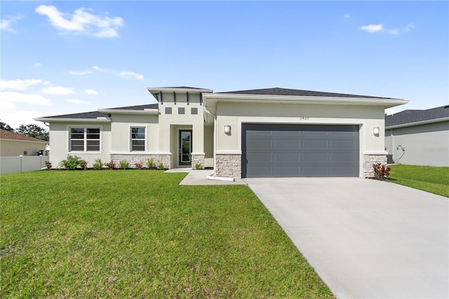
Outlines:
POLYGON ((393 183, 449 197, 449 167, 390 165, 393 183))

